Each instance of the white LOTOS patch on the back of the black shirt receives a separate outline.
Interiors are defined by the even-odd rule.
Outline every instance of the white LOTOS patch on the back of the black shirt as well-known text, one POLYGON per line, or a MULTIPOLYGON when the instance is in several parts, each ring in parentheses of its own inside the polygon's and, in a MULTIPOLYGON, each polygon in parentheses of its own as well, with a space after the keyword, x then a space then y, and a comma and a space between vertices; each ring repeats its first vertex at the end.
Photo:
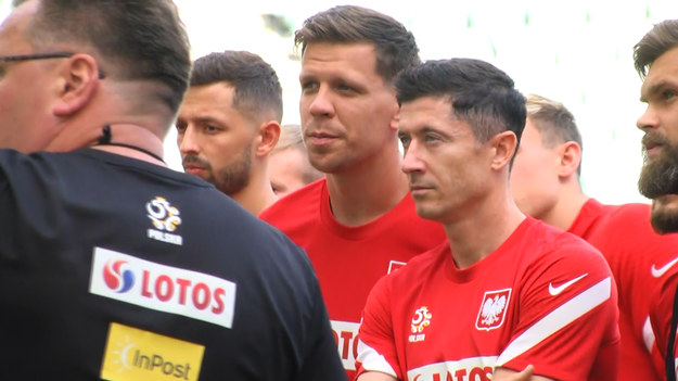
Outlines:
POLYGON ((231 328, 235 283, 94 247, 89 292, 231 328))

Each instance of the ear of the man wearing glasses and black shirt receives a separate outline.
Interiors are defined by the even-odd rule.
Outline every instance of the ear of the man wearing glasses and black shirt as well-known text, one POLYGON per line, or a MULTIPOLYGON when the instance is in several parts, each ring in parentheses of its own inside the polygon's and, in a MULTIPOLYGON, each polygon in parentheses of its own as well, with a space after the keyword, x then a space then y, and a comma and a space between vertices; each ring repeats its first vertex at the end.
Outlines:
POLYGON ((59 80, 59 100, 52 112, 55 116, 73 115, 94 97, 100 85, 99 65, 89 54, 75 54, 64 60, 59 80))

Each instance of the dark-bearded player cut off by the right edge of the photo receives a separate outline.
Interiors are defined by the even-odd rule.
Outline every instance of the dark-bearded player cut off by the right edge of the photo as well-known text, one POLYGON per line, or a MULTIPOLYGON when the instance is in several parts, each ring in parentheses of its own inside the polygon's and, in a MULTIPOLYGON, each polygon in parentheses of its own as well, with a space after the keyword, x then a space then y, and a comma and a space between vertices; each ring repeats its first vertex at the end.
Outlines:
MULTIPOLYGON (((678 232, 678 20, 664 21, 645 34, 634 48, 634 63, 643 79, 640 100, 648 105, 637 122, 645 134, 638 189, 652 199, 652 227, 660 233, 678 232)), ((667 380, 676 380, 676 263, 678 258, 661 265, 666 275, 650 307, 667 380)))

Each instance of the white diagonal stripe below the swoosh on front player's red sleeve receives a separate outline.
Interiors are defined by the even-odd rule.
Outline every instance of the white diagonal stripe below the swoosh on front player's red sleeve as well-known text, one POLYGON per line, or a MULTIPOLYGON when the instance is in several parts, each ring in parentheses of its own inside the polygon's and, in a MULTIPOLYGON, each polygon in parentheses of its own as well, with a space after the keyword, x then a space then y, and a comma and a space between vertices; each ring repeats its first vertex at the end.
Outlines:
POLYGON ((581 315, 609 300, 611 293, 612 280, 607 277, 565 302, 515 338, 499 355, 496 366, 500 367, 539 344, 581 315))

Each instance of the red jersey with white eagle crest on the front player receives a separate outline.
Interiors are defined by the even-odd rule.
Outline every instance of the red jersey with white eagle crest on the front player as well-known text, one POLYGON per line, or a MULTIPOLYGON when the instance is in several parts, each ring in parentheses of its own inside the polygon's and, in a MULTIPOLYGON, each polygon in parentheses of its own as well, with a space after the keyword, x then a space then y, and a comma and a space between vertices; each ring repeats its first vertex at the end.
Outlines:
POLYGON ((527 218, 458 269, 447 243, 383 278, 360 327, 358 372, 490 380, 495 367, 558 380, 616 380, 616 288, 600 253, 527 218))

